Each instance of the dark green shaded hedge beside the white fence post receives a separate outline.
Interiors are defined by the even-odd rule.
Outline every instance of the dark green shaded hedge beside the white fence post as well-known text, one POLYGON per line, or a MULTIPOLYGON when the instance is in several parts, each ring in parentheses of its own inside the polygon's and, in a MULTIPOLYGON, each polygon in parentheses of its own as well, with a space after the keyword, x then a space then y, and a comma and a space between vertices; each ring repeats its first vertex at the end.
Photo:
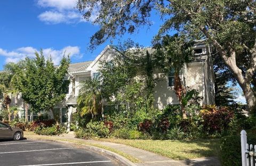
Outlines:
MULTIPOLYGON (((248 144, 256 144, 256 137, 247 136, 248 144)), ((220 159, 223 166, 239 166, 242 165, 241 157, 241 137, 225 136, 221 138, 220 143, 220 159)))

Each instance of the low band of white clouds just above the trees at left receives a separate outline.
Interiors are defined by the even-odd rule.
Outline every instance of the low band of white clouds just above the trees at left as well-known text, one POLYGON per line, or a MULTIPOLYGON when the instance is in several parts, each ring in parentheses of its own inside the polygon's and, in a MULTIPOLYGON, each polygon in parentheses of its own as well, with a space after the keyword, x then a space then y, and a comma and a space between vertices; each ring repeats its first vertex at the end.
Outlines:
MULTIPOLYGON (((7 51, 0 48, 0 56, 6 57, 5 63, 14 62, 17 63, 21 59, 25 59, 25 57, 33 58, 35 57, 35 51, 38 52, 37 49, 33 47, 20 47, 15 50, 7 51)), ((58 65, 61 58, 65 55, 69 55, 69 57, 81 58, 82 54, 80 53, 80 49, 77 46, 67 46, 60 50, 55 50, 53 48, 45 48, 43 49, 43 54, 46 58, 51 56, 54 65, 58 65)))

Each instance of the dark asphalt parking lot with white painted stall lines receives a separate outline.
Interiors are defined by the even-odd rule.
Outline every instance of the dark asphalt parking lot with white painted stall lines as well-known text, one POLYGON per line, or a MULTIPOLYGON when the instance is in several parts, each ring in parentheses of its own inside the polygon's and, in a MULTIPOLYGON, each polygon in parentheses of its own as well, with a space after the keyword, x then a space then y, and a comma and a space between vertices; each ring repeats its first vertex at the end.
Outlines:
POLYGON ((1 166, 122 165, 104 154, 86 148, 47 141, 0 141, 1 166))

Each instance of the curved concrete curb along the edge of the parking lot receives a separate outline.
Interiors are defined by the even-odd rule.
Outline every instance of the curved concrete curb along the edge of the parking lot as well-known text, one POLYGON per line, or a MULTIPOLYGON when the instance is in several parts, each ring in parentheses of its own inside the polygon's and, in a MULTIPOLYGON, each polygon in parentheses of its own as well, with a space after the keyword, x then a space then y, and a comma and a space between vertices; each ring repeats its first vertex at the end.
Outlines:
MULTIPOLYGON (((33 139, 33 138, 28 138, 28 139, 33 139)), ((119 155, 115 152, 105 150, 105 149, 100 148, 100 147, 96 147, 96 146, 92 146, 92 145, 81 145, 81 144, 73 143, 73 142, 69 142, 69 141, 61 141, 61 140, 53 140, 53 139, 42 139, 42 138, 35 138, 35 139, 50 141, 50 142, 65 143, 66 145, 75 145, 75 146, 79 146, 79 147, 82 147, 82 148, 89 148, 92 151, 96 151, 96 152, 99 152, 99 153, 105 153, 105 154, 111 156, 112 158, 118 160, 119 162, 123 163, 126 166, 138 166, 135 163, 131 162, 130 160, 126 159, 124 156, 119 155)))

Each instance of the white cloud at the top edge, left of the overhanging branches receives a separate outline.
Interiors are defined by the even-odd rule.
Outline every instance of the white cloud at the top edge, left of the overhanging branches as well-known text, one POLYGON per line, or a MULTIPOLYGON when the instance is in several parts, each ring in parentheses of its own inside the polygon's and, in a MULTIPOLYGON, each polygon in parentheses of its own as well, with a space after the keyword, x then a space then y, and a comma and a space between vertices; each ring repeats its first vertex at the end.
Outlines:
MULTIPOLYGON (((76 0, 38 0, 38 6, 47 8, 38 15, 38 19, 47 24, 87 22, 75 8, 76 3, 76 0)), ((93 22, 97 16, 97 12, 93 12, 90 22, 93 22)))

